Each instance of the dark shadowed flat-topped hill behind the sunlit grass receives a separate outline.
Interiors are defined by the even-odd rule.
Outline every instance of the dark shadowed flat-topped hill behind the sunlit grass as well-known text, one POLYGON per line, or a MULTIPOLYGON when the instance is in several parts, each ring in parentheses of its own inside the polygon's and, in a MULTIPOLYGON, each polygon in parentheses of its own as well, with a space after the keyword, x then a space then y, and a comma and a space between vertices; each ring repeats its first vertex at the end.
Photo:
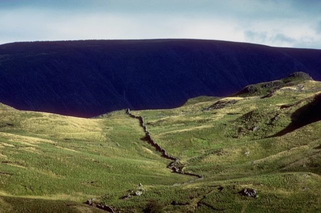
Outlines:
POLYGON ((294 71, 320 80, 321 50, 193 39, 18 42, 0 45, 0 102, 89 117, 176 107, 294 71))

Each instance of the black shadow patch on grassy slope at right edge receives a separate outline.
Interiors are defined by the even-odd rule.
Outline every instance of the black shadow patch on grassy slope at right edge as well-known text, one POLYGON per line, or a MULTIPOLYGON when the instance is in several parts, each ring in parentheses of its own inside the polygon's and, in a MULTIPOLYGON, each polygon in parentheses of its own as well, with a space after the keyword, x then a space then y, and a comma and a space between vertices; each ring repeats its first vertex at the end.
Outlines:
POLYGON ((282 136, 302 126, 321 120, 321 94, 316 95, 312 102, 294 111, 291 120, 291 123, 283 130, 268 137, 282 136))

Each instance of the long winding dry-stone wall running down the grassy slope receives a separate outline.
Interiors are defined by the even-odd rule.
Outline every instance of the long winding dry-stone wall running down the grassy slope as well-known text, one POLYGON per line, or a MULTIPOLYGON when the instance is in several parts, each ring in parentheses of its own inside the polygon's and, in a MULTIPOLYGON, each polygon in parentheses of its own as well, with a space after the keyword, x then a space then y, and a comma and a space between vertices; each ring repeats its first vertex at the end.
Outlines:
POLYGON ((198 177, 197 179, 203 179, 203 176, 200 175, 200 174, 195 174, 195 173, 192 173, 192 172, 185 172, 183 171, 183 168, 184 166, 180 166, 180 159, 178 157, 175 157, 175 156, 172 156, 170 154, 168 154, 168 152, 162 147, 160 146, 158 143, 156 143, 149 131, 147 130, 147 126, 145 125, 145 122, 144 122, 144 118, 142 116, 136 116, 134 114, 132 114, 130 112, 130 109, 127 108, 126 109, 126 114, 128 114, 130 117, 132 118, 135 118, 135 119, 138 119, 139 120, 139 123, 140 123, 140 126, 144 129, 144 132, 145 132, 145 140, 151 144, 152 146, 155 147, 155 149, 159 152, 162 153, 162 156, 167 158, 167 159, 171 159, 171 160, 174 160, 173 162, 171 162, 167 167, 172 169, 174 172, 176 173, 180 173, 180 174, 185 174, 185 175, 190 175, 190 176, 196 176, 198 177))

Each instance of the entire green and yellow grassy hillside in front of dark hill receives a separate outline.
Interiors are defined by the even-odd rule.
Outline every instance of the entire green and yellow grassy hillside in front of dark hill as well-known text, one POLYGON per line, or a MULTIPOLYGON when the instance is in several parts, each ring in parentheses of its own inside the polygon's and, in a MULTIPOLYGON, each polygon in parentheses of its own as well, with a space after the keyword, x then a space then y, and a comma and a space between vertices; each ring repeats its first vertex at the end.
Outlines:
POLYGON ((85 119, 0 105, 0 208, 99 211, 81 204, 95 197, 125 212, 141 212, 150 199, 170 212, 319 212, 321 82, 291 77, 265 85, 132 111, 185 171, 204 175, 187 184, 175 183, 194 177, 166 168, 170 160, 122 110, 85 119), (142 195, 121 199, 140 182, 142 195), (259 197, 238 193, 247 187, 259 197))

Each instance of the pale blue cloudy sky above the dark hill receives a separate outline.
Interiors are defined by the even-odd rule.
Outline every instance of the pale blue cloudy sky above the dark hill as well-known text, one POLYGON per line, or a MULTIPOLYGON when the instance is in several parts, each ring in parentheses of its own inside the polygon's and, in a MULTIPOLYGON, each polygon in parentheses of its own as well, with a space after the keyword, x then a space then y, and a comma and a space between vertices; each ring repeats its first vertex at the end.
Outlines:
POLYGON ((0 44, 146 38, 321 49, 321 0, 0 0, 0 44))

